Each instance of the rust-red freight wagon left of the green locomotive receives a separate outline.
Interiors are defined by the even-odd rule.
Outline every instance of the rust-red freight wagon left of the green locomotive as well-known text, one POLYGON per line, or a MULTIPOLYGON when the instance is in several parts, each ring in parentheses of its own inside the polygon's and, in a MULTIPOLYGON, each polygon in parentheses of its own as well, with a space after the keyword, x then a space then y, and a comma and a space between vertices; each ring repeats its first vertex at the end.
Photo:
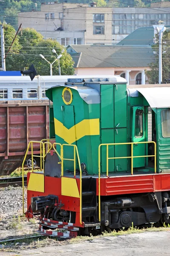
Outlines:
MULTIPOLYGON (((0 175, 8 175, 21 165, 30 140, 47 137, 49 100, 1 101, 0 175)), ((39 154, 39 149, 39 145, 34 147, 34 153, 39 154)))

